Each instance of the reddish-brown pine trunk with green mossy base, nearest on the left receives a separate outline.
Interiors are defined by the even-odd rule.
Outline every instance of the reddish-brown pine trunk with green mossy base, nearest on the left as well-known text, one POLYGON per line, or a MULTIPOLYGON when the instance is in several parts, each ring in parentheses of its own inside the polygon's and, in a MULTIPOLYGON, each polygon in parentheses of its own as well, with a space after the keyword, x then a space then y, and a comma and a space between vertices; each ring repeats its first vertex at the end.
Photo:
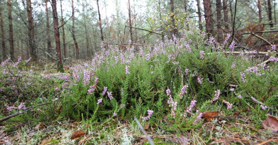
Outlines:
POLYGON ((51 0, 51 1, 52 1, 51 6, 53 10, 54 36, 55 36, 55 43, 56 43, 57 71, 64 72, 62 57, 61 57, 60 32, 59 32, 59 21, 58 21, 56 0, 51 0))

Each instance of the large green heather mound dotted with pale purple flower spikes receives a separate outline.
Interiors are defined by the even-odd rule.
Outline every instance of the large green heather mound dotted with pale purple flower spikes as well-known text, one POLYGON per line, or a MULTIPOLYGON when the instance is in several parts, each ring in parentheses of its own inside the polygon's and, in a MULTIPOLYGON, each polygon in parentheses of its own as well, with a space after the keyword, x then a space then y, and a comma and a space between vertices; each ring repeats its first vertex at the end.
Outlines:
MULTIPOLYGON (((224 54, 224 51, 230 49, 234 47, 218 44, 212 38, 205 40, 204 34, 198 30, 186 31, 179 39, 166 39, 164 43, 157 41, 154 47, 149 48, 135 49, 130 45, 119 50, 114 46, 103 47, 92 60, 76 66, 69 75, 46 78, 34 76, 33 86, 27 86, 27 90, 32 89, 37 98, 26 96, 31 100, 25 99, 24 96, 28 93, 23 93, 16 98, 15 106, 21 101, 25 101, 26 106, 31 105, 30 102, 55 102, 54 105, 41 107, 42 111, 38 111, 42 116, 40 119, 61 115, 86 122, 116 117, 132 119, 133 115, 137 118, 146 117, 147 110, 152 110, 154 112, 150 115, 150 120, 146 121, 162 125, 171 122, 168 130, 175 130, 177 127, 187 130, 198 126, 200 121, 193 125, 199 115, 198 111, 224 109, 227 114, 231 114, 233 111, 242 112, 241 109, 247 107, 254 109, 253 114, 260 114, 262 119, 266 118, 267 112, 277 112, 277 59, 257 66, 261 61, 254 59, 255 55, 244 54, 245 51, 241 51, 240 55, 224 54), (50 83, 47 94, 38 96, 43 93, 36 91, 43 92, 42 86, 47 85, 46 83, 50 83), (180 98, 184 85, 188 85, 187 93, 180 98), (104 87, 107 87, 108 93, 111 92, 113 99, 109 99, 110 94, 107 92, 103 93, 104 87), (172 107, 168 104, 167 89, 171 90, 171 97, 177 102, 175 116, 171 115, 172 107), (211 103, 217 90, 221 92, 219 99, 211 103), (239 99, 238 95, 242 98, 239 99), (97 105, 99 99, 102 102, 97 105), (193 100, 197 101, 196 105, 190 113, 183 116, 193 100), (232 108, 228 109, 222 100, 231 103, 232 108), (265 110, 260 102, 263 107, 267 106, 265 110)), ((275 52, 271 52, 270 56, 275 57, 275 52)), ((12 63, 1 66, 1 100, 6 98, 5 94, 11 95, 18 90, 13 85, 28 82, 27 77, 21 77, 18 79, 22 82, 18 84, 5 83, 11 82, 12 78, 11 72, 3 73, 8 68, 17 69, 12 63)), ((1 109, 1 116, 8 114, 6 108, 1 109)), ((16 110, 13 109, 14 112, 16 110)))

